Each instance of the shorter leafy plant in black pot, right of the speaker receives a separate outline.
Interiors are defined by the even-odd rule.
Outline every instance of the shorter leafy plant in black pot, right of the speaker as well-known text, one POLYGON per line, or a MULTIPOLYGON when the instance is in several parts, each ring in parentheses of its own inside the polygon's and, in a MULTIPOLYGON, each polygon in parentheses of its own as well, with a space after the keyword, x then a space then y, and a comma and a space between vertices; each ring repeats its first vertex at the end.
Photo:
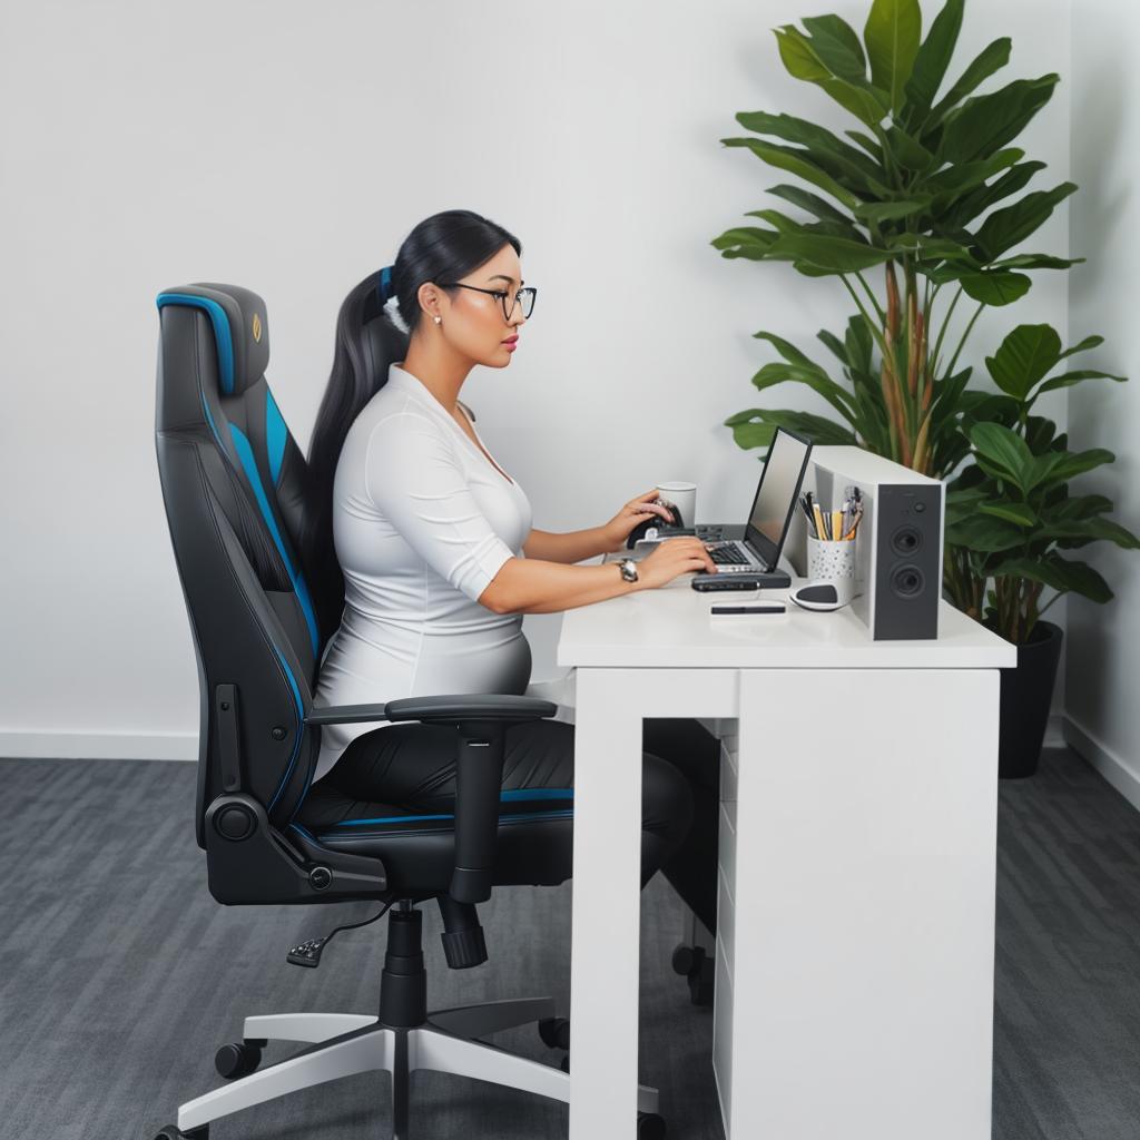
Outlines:
POLYGON ((1042 616, 1069 593, 1101 604, 1113 596, 1105 579, 1068 552, 1104 540, 1140 546, 1106 518, 1110 499, 1069 494, 1072 479, 1112 463, 1113 453, 1069 451, 1057 425, 1034 415, 1045 392, 1125 378, 1094 368, 1056 372, 1101 340, 1090 336, 1062 350, 1049 325, 1019 325, 986 359, 997 393, 962 418, 972 462, 948 488, 944 580, 959 609, 1017 645, 1017 668, 1002 670, 1001 681, 999 774, 1007 777, 1036 771, 1049 719, 1061 630, 1042 616), (1042 605, 1047 589, 1051 596, 1042 605))

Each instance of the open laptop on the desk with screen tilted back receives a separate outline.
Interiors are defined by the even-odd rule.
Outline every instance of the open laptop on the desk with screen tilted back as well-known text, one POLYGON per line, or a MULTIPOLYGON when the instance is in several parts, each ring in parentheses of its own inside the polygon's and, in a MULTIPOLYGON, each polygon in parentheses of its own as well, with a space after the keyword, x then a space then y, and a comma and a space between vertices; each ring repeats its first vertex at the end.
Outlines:
MULTIPOLYGON (((791 527, 799 489, 807 473, 812 445, 795 432, 777 427, 756 487, 752 508, 743 526, 706 523, 698 527, 658 527, 657 542, 694 535, 711 547, 717 573, 772 573, 780 561, 791 527)), ((646 537, 652 535, 649 531, 646 537)), ((641 544, 638 544, 641 545, 641 544)))

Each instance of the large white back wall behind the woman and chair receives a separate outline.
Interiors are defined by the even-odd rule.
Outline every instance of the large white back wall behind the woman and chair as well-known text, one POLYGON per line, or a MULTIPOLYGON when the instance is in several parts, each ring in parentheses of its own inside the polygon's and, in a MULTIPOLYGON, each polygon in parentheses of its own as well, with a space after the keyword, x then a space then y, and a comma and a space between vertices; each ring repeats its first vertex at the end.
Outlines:
MULTIPOLYGON (((466 207, 520 236, 534 320, 463 397, 535 524, 597 526, 660 480, 741 516, 756 453, 720 426, 757 394, 759 328, 839 327, 834 283, 720 259, 775 172, 718 139, 738 111, 854 125, 779 63, 771 27, 850 0, 432 5, 199 0, 0 9, 0 754, 192 756, 196 675, 154 461, 155 295, 264 298, 269 380, 302 446, 340 301, 422 218, 466 207)), ((928 19, 934 6, 928 6, 928 19)), ((972 3, 964 66, 1067 73, 1067 0, 972 3)), ((993 83, 993 81, 992 81, 993 83)), ((1025 136, 1068 165, 1067 87, 1025 136)), ((784 179, 790 180, 790 179, 784 179)), ((1065 211, 1034 246, 1062 252, 1065 211)), ((1066 331, 1064 275, 979 324, 1066 331)), ((820 349, 823 353, 823 349, 820 349)), ((796 388, 773 404, 823 410, 796 388)), ((1061 406, 1064 412, 1064 406, 1061 406)), ((529 616, 535 677, 560 618, 529 616)), ((378 699, 383 694, 377 694, 378 699)))

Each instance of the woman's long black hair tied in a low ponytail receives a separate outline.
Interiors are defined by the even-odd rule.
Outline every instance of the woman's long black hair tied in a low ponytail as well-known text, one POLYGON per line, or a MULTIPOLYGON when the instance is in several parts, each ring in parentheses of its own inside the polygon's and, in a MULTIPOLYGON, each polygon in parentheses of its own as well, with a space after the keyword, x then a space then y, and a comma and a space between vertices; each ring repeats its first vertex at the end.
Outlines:
POLYGON ((384 309, 381 270, 356 285, 336 318, 333 367, 309 443, 302 560, 323 579, 323 625, 335 628, 344 602, 343 580, 333 549, 333 479, 344 438, 364 406, 388 383, 390 365, 404 360, 412 333, 424 312, 417 293, 424 282, 454 282, 489 261, 504 245, 522 253, 519 239, 471 210, 445 210, 425 218, 404 239, 392 263, 389 295, 399 302, 408 332, 384 309), (333 597, 331 595, 335 594, 333 597), (331 612, 335 604, 335 613, 331 612))

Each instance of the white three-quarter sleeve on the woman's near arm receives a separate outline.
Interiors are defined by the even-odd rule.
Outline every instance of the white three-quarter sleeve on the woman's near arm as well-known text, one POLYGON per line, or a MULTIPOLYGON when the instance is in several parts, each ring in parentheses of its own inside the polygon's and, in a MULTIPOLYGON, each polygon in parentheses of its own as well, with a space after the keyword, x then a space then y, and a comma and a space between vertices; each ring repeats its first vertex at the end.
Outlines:
POLYGON ((439 427, 425 416, 397 412, 375 424, 365 486, 404 540, 472 601, 515 556, 480 510, 439 427))

